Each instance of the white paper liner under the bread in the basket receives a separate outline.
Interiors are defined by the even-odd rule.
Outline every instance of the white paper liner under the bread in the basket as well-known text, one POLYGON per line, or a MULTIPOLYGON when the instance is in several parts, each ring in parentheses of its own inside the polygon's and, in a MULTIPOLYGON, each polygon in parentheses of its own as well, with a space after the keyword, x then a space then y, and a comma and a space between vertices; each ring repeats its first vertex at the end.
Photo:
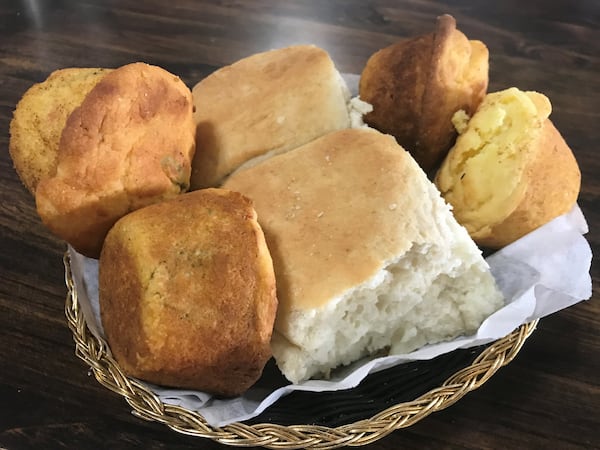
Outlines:
MULTIPOLYGON (((408 361, 427 360, 458 348, 500 339, 518 326, 545 317, 592 295, 592 252, 584 234, 587 224, 576 206, 571 212, 487 258, 506 305, 486 319, 473 336, 429 345, 409 354, 364 359, 334 371, 329 380, 297 385, 257 383, 228 400, 177 389, 149 387, 165 402, 198 411, 212 426, 247 420, 294 390, 335 391, 356 386, 369 373, 408 361)), ((78 300, 90 331, 104 339, 98 305, 98 261, 69 249, 78 300)))

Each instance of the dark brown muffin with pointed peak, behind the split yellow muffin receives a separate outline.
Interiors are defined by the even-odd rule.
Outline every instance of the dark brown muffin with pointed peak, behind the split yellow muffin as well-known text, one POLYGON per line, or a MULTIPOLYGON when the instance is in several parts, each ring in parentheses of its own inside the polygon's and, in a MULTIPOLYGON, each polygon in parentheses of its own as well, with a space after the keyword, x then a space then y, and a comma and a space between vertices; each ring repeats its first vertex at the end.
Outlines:
POLYGON ((452 16, 438 18, 433 33, 379 50, 361 74, 360 98, 373 105, 365 122, 393 135, 425 172, 454 143, 452 115, 471 114, 488 86, 488 49, 456 29, 452 16))

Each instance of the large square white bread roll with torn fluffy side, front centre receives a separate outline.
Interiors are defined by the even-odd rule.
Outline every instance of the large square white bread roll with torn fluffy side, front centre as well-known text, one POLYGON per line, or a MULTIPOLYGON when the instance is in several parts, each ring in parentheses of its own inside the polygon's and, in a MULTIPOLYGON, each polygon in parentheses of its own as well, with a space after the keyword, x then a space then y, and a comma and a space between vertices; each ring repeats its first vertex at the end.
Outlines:
POLYGON ((234 173, 273 257, 275 360, 292 382, 475 331, 502 305, 485 260, 393 137, 330 133, 234 173))

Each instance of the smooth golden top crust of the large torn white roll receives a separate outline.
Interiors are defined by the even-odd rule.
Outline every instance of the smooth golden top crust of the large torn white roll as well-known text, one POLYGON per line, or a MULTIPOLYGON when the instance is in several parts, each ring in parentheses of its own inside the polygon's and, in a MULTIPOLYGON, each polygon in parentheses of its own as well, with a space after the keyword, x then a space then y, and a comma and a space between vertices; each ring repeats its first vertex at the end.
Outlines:
POLYGON ((250 197, 259 214, 277 275, 278 324, 369 279, 411 239, 427 239, 432 231, 421 228, 431 219, 419 215, 430 183, 418 172, 391 136, 348 129, 227 179, 224 187, 250 197))

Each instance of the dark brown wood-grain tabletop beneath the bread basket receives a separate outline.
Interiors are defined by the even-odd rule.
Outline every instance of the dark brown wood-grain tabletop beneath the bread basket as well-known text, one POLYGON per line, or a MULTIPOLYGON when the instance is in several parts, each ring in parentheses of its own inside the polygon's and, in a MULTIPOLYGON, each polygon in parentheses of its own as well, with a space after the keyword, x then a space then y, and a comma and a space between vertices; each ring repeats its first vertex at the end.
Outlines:
MULTIPOLYGON (((3 0, 0 2, 0 447, 225 448, 130 414, 74 355, 63 242, 40 223, 8 155, 12 111, 58 68, 144 61, 188 86, 251 53, 313 43, 343 72, 450 13, 491 54, 490 89, 534 89, 582 169, 600 251, 600 2, 3 0)), ((371 444, 396 448, 600 448, 600 273, 593 298, 542 320, 481 389, 371 444)))

